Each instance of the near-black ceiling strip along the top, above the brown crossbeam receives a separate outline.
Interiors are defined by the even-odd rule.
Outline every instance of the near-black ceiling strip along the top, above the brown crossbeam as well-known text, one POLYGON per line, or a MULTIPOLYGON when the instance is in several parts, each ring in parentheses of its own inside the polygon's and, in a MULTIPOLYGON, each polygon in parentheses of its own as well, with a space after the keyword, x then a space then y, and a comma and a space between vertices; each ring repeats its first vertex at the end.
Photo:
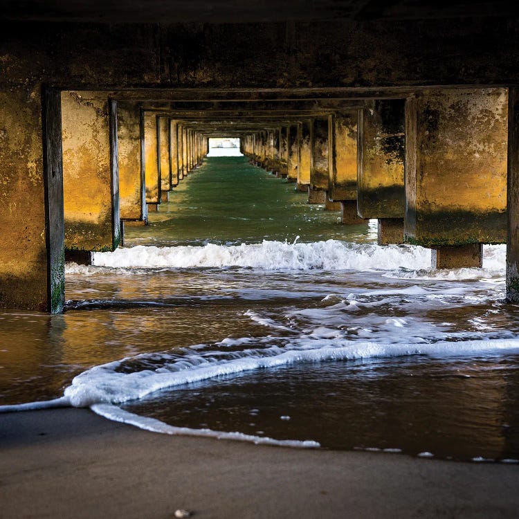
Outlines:
POLYGON ((326 19, 516 17, 488 0, 0 0, 0 20, 238 23, 326 19))

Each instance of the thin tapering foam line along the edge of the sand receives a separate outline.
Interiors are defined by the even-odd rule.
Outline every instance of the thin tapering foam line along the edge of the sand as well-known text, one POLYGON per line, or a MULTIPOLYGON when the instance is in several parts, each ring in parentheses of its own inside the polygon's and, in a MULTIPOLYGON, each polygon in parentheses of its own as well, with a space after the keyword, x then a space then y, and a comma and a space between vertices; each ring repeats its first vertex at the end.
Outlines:
POLYGON ((248 441, 257 445, 273 445, 281 447, 296 447, 296 448, 319 448, 320 444, 312 440, 293 440, 293 439, 273 439, 263 436, 246 435, 243 432, 221 432, 212 429, 192 429, 188 427, 175 427, 165 424, 163 421, 134 415, 132 412, 127 412, 111 406, 106 403, 98 403, 91 406, 91 409, 96 414, 108 418, 109 420, 118 421, 122 424, 129 424, 140 429, 150 430, 152 432, 161 432, 165 435, 173 436, 197 436, 217 439, 232 439, 235 441, 248 441))

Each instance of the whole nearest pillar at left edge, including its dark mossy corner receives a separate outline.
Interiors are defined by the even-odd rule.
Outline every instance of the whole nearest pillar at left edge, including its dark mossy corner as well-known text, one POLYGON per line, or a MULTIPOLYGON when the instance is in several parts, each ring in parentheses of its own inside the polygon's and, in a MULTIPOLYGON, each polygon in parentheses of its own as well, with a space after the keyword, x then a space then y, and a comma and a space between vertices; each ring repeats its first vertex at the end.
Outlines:
POLYGON ((26 84, 0 91, 0 307, 59 312, 65 278, 61 102, 59 91, 46 90, 43 99, 41 92, 26 84))

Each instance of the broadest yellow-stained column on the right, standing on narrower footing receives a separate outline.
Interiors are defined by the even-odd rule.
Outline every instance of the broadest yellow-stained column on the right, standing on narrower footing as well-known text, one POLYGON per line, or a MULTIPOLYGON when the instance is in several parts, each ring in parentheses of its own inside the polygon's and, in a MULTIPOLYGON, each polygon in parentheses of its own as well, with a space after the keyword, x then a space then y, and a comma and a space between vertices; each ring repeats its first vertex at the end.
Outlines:
POLYGON ((480 266, 479 244, 507 238, 507 120, 502 88, 406 103, 406 241, 437 249, 437 266, 480 266))

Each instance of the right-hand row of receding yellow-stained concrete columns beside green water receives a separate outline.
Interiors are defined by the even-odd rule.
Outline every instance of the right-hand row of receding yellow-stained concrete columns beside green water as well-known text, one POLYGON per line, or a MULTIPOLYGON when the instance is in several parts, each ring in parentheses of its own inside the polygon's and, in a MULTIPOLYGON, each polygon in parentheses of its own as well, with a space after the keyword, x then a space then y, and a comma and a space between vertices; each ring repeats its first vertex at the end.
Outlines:
POLYGON ((507 89, 423 89, 248 134, 243 148, 309 203, 340 202, 343 224, 378 219, 379 244, 481 266, 482 244, 507 238, 508 118, 507 89))

